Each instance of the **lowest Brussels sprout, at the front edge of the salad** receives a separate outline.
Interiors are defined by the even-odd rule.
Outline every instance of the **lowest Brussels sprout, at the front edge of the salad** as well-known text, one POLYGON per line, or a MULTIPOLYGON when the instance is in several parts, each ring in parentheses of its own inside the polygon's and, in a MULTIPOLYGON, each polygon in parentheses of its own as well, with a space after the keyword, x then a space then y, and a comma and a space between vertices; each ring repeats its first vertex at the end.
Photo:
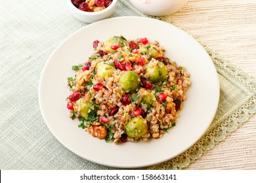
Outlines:
POLYGON ((142 117, 132 118, 125 124, 125 132, 130 138, 140 138, 148 133, 148 125, 142 117))

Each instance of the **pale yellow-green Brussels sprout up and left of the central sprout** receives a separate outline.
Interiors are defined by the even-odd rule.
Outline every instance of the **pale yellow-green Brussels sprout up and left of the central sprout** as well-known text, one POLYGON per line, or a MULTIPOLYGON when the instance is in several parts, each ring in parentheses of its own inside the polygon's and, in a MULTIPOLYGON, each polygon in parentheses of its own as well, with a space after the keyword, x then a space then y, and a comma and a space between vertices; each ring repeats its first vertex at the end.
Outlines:
POLYGON ((116 70, 114 63, 112 62, 100 62, 96 65, 96 76, 100 78, 105 78, 106 76, 112 76, 113 72, 116 70))

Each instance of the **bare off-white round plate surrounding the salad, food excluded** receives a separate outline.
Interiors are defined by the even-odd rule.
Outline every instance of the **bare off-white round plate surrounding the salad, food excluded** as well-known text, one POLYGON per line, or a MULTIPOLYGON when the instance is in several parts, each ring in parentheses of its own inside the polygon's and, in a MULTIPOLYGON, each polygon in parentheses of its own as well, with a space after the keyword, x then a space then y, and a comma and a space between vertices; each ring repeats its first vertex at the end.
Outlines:
POLYGON ((119 17, 87 25, 70 35, 47 61, 41 75, 39 103, 45 123, 66 148, 82 158, 112 167, 144 167, 174 158, 195 144, 207 130, 219 103, 219 79, 215 66, 202 46, 174 25, 141 17, 119 17), (93 41, 114 35, 127 39, 147 37, 166 49, 166 56, 183 65, 192 86, 180 111, 177 125, 162 139, 148 142, 106 143, 77 127, 68 117, 67 78, 74 76, 72 65, 87 61, 93 41))

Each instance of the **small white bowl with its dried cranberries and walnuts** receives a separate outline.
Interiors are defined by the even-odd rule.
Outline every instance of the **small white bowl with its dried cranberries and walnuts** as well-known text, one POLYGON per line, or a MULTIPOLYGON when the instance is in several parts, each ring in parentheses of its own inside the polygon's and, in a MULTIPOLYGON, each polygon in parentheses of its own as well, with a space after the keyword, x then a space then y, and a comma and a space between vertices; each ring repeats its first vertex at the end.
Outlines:
POLYGON ((87 23, 109 18, 116 3, 117 0, 67 0, 68 9, 73 16, 87 23))

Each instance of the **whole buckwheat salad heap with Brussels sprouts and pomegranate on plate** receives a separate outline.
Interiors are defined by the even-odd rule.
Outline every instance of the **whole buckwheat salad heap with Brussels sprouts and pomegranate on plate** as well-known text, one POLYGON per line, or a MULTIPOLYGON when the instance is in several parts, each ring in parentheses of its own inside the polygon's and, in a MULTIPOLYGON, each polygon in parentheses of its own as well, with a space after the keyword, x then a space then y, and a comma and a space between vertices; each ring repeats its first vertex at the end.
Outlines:
POLYGON ((114 36, 94 41, 93 48, 68 78, 67 108, 78 127, 122 144, 160 139, 175 126, 190 74, 165 57, 158 41, 114 36))

